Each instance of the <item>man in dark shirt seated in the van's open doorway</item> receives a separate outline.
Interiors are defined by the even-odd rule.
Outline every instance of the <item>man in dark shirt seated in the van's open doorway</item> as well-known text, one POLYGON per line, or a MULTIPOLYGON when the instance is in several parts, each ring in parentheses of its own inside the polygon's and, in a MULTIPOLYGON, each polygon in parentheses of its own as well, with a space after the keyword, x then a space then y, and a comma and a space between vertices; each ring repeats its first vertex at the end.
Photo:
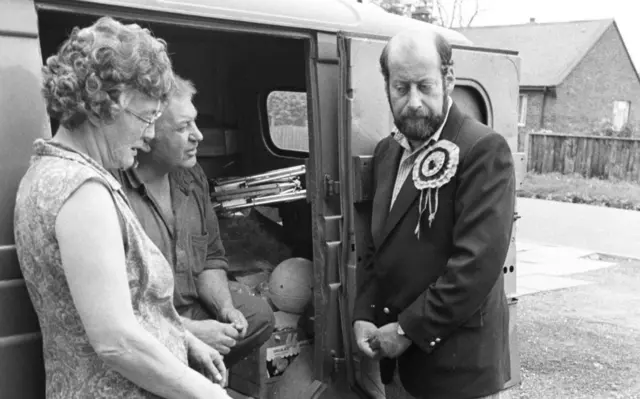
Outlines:
POLYGON ((186 328, 231 367, 269 339, 275 321, 262 298, 229 290, 218 219, 196 163, 202 133, 191 102, 195 93, 191 82, 177 78, 150 152, 137 154, 136 167, 114 174, 147 235, 174 267, 174 303, 186 328))

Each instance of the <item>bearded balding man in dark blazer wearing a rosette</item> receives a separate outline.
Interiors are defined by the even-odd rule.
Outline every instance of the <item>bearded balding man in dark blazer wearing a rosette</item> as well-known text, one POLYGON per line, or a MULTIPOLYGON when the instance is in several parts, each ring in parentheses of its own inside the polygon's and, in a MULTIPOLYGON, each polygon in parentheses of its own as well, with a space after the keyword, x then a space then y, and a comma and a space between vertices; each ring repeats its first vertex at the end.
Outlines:
POLYGON ((502 267, 514 218, 505 139, 460 111, 451 46, 408 31, 380 57, 396 129, 374 151, 368 254, 354 333, 414 397, 507 398, 502 267))

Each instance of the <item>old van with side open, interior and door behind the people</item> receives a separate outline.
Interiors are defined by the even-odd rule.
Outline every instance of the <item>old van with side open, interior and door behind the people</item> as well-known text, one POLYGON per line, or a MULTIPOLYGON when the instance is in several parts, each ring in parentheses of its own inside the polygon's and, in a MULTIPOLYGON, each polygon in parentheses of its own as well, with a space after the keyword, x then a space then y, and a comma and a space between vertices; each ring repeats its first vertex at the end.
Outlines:
MULTIPOLYGON (((306 363, 302 357, 299 362, 304 367, 298 370, 306 370, 299 373, 306 374, 295 383, 303 388, 289 389, 282 380, 268 395, 320 397, 342 389, 338 397, 394 397, 377 382, 373 365, 358 356, 349 316, 362 231, 369 225, 371 155, 393 124, 380 52, 389 37, 409 27, 443 34, 454 46, 454 100, 503 134, 513 151, 517 53, 479 48, 453 30, 355 0, 0 0, 0 10, 0 398, 44 398, 41 335, 12 224, 32 143, 57 127, 40 94, 41 66, 73 27, 104 15, 164 38, 176 72, 195 83, 204 133, 198 162, 213 183, 304 167, 303 195, 266 203, 261 214, 277 225, 264 234, 289 248, 289 255, 313 262, 313 344, 306 363)), ((521 170, 522 155, 514 158, 521 170)), ((243 224, 221 218, 221 226, 224 235, 243 224)), ((254 232, 242 233, 234 237, 254 232)), ((229 240, 233 255, 242 245, 229 240)), ((504 265, 511 297, 514 249, 504 265)), ((515 331, 512 340, 510 385, 519 381, 515 331)))

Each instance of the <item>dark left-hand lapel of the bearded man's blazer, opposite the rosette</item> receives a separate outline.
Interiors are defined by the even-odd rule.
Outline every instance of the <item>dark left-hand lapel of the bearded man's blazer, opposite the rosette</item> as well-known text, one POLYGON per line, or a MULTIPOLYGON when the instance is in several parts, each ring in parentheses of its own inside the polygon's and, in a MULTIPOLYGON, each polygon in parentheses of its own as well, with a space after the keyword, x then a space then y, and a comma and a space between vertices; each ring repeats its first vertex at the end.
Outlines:
POLYGON ((382 229, 389 215, 389 206, 391 204, 391 195, 393 194, 393 186, 398 174, 398 165, 402 157, 402 147, 395 140, 389 143, 389 149, 384 155, 377 167, 382 171, 376 173, 379 181, 376 184, 376 195, 373 198, 373 212, 371 216, 371 231, 373 233, 374 243, 379 243, 382 229))

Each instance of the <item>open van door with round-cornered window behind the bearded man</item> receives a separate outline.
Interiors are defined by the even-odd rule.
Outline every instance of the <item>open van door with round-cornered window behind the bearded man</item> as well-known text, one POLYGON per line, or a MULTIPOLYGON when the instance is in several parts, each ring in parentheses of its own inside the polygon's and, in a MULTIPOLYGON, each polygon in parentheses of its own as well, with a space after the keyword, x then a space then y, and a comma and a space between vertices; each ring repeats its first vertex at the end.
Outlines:
MULTIPOLYGON (((347 371, 370 396, 399 398, 406 394, 394 385, 384 387, 377 364, 358 354, 351 312, 356 294, 356 270, 363 261, 364 231, 370 228, 372 154, 376 144, 393 128, 379 58, 387 40, 341 34, 338 37, 339 167, 342 204, 341 307, 347 371), (350 342, 349 342, 350 341, 350 342)), ((453 100, 468 115, 502 134, 517 150, 519 58, 515 52, 453 46, 456 88, 453 100)), ((515 237, 514 237, 515 239, 515 237)), ((512 239, 512 247, 515 240, 512 239)), ((505 271, 507 296, 515 294, 515 250, 509 251, 505 271)), ((513 312, 512 312, 513 315, 513 312)), ((515 317, 512 316, 515 326, 515 317)), ((512 381, 519 380, 519 361, 512 330, 512 381)))

